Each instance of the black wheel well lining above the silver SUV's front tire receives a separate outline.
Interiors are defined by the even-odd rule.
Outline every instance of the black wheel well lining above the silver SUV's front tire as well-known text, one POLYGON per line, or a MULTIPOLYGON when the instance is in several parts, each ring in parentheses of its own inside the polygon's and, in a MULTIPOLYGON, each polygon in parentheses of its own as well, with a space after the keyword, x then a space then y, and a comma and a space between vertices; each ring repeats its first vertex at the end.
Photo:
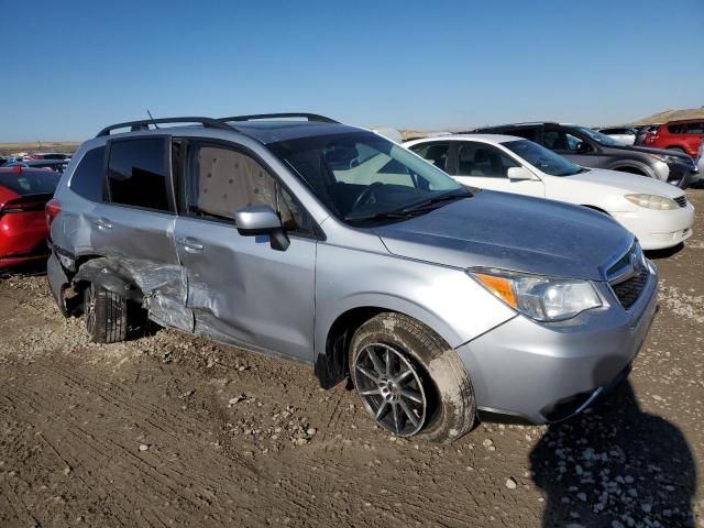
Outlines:
POLYGON ((352 336, 358 328, 383 311, 392 310, 365 306, 345 311, 336 319, 328 330, 326 352, 316 359, 316 376, 322 388, 331 388, 346 377, 352 336))

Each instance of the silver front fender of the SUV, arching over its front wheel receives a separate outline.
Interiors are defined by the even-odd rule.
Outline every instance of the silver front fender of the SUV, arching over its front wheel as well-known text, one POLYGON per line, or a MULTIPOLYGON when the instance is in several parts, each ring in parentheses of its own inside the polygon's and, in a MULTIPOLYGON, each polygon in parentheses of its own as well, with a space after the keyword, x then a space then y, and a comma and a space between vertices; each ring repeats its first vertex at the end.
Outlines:
POLYGON ((334 321, 356 308, 405 314, 432 329, 452 348, 516 316, 464 270, 319 244, 314 361, 326 352, 334 321))

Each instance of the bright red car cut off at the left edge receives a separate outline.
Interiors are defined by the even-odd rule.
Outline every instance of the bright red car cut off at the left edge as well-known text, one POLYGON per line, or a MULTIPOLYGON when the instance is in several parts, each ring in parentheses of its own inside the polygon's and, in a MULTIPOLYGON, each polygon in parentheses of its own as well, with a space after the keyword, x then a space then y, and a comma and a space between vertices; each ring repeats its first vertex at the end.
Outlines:
POLYGON ((47 257, 44 207, 61 176, 42 168, 0 167, 0 268, 47 257))

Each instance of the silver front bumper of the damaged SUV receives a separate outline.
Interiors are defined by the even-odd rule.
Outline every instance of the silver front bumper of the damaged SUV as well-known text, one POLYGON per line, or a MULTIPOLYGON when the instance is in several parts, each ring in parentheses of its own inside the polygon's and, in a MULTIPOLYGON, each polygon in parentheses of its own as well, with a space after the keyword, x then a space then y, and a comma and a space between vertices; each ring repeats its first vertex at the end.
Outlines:
POLYGON ((654 315, 657 286, 651 271, 638 300, 625 310, 601 283, 608 308, 569 323, 517 316, 459 346, 479 410, 546 424, 588 407, 628 375, 654 315))

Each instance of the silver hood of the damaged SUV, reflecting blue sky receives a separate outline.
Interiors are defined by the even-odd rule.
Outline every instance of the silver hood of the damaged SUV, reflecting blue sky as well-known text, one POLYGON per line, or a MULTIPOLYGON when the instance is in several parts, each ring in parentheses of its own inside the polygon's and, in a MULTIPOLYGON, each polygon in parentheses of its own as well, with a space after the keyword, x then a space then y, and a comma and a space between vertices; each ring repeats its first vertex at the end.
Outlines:
POLYGON ((490 190, 374 232, 407 258, 590 280, 604 280, 634 240, 604 213, 490 190))

